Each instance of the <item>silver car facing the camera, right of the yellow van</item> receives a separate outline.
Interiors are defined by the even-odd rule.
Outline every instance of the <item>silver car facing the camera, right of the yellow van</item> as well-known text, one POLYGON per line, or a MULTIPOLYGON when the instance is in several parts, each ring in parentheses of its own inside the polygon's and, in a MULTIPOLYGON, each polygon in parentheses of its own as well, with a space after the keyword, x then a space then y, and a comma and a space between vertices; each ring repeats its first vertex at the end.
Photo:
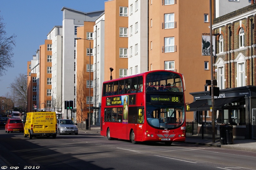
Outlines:
POLYGON ((58 134, 76 134, 78 135, 77 123, 70 119, 58 119, 57 120, 58 134))

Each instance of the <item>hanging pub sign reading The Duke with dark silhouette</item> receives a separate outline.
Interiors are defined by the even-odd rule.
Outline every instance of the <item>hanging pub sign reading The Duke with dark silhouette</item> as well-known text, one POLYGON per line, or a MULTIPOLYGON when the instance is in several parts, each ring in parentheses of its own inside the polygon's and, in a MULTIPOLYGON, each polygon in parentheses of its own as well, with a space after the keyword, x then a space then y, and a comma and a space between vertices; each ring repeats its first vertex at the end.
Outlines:
MULTIPOLYGON (((210 36, 202 36, 202 56, 210 56, 210 36)), ((213 56, 215 56, 215 36, 213 36, 213 56)))

